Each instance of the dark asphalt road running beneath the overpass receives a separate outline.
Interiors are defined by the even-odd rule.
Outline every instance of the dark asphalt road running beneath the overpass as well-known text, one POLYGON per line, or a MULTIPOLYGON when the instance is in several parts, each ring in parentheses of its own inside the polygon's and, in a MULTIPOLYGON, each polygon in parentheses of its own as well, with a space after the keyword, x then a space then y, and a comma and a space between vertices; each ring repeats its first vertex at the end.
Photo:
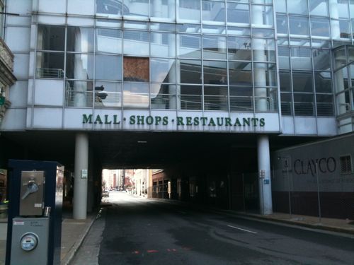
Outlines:
POLYGON ((354 239, 110 192, 98 264, 354 264, 354 239))

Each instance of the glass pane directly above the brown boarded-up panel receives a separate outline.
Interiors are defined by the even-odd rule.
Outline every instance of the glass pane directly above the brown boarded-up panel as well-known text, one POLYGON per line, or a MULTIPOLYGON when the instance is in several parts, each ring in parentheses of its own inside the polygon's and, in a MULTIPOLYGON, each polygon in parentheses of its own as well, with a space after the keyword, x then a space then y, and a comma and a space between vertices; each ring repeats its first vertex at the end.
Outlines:
POLYGON ((124 31, 124 54, 149 56, 149 33, 147 31, 124 31))

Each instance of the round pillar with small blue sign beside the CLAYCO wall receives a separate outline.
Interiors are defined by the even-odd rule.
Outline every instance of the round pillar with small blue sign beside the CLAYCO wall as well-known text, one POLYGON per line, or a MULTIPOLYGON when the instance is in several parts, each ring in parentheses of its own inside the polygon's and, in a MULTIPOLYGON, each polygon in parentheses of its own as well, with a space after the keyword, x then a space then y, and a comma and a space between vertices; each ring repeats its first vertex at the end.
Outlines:
POLYGON ((273 213, 272 186, 270 182, 270 153, 268 135, 259 135, 258 148, 258 183, 261 214, 273 213))

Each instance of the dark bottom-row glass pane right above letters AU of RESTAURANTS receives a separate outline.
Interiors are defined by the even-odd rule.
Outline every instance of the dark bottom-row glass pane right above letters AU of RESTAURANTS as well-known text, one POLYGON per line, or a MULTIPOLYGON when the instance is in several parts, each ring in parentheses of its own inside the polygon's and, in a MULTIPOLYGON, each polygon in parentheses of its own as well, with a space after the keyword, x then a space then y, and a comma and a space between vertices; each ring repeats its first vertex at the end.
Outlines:
POLYGON ((204 87, 204 110, 227 111, 227 87, 204 87))

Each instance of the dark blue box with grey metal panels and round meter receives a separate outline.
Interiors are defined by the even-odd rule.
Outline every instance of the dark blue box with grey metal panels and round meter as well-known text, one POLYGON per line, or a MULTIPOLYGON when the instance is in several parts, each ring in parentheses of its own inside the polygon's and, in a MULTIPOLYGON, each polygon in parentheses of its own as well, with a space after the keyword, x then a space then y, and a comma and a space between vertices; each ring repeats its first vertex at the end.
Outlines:
POLYGON ((64 167, 57 162, 33 160, 9 160, 8 167, 5 264, 22 264, 25 260, 26 265, 59 265, 64 167), (45 256, 46 261, 36 259, 33 253, 45 256))

